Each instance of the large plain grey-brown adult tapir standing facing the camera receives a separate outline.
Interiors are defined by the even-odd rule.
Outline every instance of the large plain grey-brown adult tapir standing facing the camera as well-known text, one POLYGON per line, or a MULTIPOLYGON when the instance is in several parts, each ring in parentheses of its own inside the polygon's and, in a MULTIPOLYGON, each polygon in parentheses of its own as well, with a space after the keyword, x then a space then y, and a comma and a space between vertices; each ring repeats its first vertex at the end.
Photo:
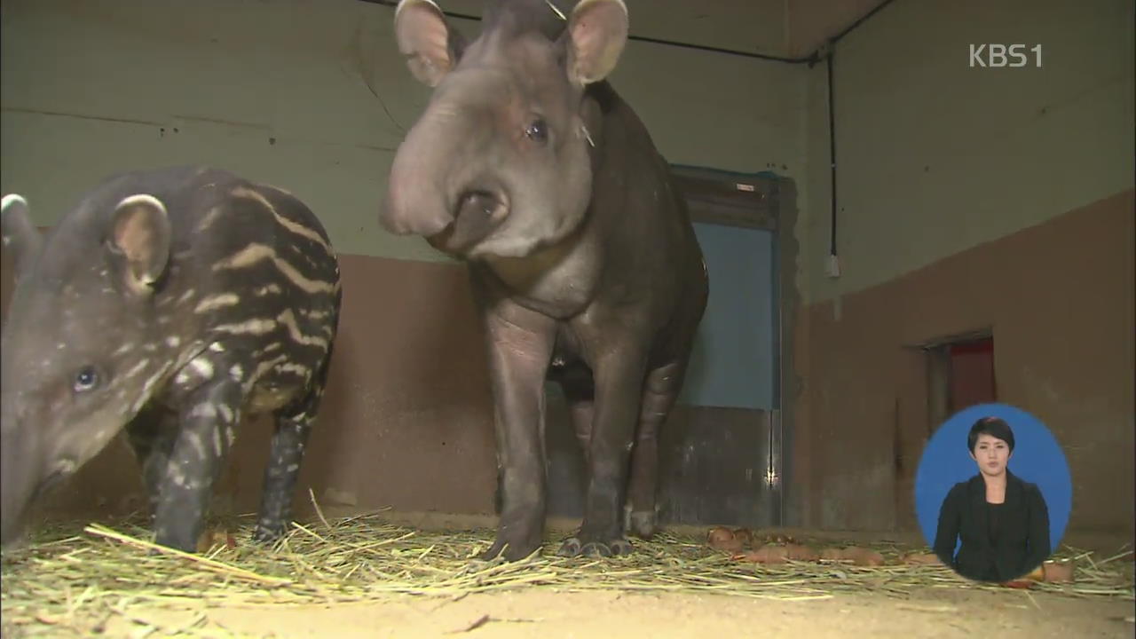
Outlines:
POLYGON ((583 524, 559 554, 630 551, 655 525, 658 432, 678 395, 708 277, 669 167, 604 81, 621 0, 490 2, 466 44, 402 0, 399 50, 434 88, 399 147, 383 225, 465 259, 484 321, 501 520, 485 557, 542 540, 545 377, 588 465, 583 524))

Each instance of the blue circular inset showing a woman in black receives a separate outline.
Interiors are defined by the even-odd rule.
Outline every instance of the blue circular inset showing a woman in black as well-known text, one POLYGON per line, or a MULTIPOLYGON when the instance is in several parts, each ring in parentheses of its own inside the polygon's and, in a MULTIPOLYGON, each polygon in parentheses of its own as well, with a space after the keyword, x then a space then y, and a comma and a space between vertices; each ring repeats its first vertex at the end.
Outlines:
POLYGON ((1037 569, 1060 545, 1072 508, 1061 446, 1041 420, 1005 404, 971 406, 944 422, 924 449, 914 493, 927 545, 959 574, 983 581, 1037 569), (1031 548, 1029 539, 1049 547, 1031 548))

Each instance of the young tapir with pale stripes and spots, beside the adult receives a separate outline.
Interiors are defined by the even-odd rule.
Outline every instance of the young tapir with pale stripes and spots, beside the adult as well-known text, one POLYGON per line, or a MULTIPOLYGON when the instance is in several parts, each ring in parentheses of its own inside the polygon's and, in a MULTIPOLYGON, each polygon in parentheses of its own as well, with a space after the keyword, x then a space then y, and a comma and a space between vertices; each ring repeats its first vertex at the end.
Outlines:
POLYGON ((207 167, 89 192, 45 238, 2 202, 16 285, 3 329, 2 542, 124 428, 156 541, 192 551, 242 417, 276 431, 254 538, 290 521, 339 323, 335 252, 295 197, 207 167))

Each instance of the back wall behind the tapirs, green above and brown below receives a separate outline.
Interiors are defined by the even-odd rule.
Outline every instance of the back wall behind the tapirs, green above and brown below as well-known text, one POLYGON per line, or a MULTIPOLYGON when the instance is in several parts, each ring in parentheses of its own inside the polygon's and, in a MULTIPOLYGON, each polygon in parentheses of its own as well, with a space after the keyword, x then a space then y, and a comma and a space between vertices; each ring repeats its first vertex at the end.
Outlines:
MULTIPOLYGON (((782 48, 784 3, 744 5, 778 16, 752 30, 751 48, 782 48)), ((427 98, 395 53, 393 10, 356 0, 9 0, 0 13, 0 190, 27 197, 39 225, 110 173, 181 163, 285 186, 324 221, 345 294, 299 512, 310 488, 325 506, 492 513, 492 407, 465 273, 376 221, 394 150, 427 98)), ((710 33, 638 14, 640 34, 710 33)), ((794 67, 632 42, 612 81, 673 163, 803 169, 794 123, 804 77, 794 67)), ((7 260, 0 284, 6 301, 7 260)), ((676 420, 684 448, 683 433, 701 437, 687 423, 720 423, 696 408, 676 420)), ((257 506, 268 432, 248 426, 218 489, 241 512, 257 506)), ((134 467, 117 441, 51 509, 137 507, 134 467)))

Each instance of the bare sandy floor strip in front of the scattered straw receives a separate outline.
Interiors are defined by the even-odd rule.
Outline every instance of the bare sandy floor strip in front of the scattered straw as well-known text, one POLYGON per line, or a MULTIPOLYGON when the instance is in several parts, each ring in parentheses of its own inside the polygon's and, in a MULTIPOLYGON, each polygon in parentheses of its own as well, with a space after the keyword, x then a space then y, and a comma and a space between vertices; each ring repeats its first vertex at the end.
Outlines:
MULTIPOLYGON (((770 601, 727 595, 528 591, 470 595, 460 600, 415 598, 335 606, 214 608, 206 624, 234 634, 335 637, 1133 637, 1130 601, 1077 600, 1049 594, 925 591, 908 600, 836 596, 770 601)), ((195 613, 135 612, 169 628, 195 613)), ((130 622, 107 628, 127 637, 130 622)))

